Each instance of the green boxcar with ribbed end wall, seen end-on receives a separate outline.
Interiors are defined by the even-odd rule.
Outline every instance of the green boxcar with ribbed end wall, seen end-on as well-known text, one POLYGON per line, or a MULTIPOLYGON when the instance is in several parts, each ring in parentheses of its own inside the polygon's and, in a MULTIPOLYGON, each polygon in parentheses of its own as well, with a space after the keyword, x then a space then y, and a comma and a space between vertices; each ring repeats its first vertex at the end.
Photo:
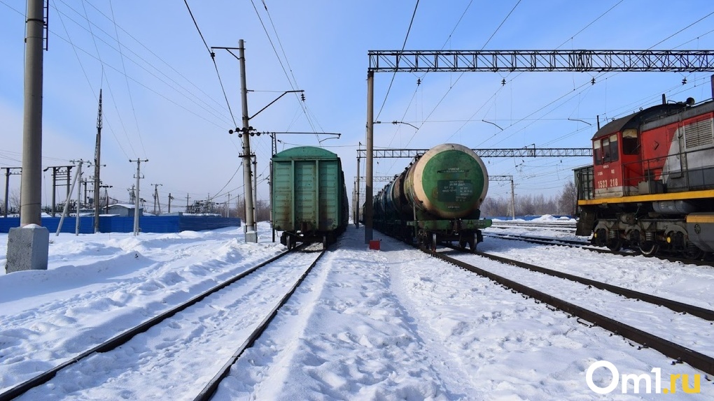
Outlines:
POLYGON ((293 147, 273 156, 271 209, 281 244, 336 241, 348 224, 340 158, 320 147, 293 147))

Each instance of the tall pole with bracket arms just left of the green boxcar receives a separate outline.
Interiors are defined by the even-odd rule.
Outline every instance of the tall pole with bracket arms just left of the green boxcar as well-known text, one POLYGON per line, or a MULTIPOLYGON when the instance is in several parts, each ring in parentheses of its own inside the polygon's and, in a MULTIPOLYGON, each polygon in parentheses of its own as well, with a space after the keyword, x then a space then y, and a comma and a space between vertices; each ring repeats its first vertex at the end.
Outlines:
POLYGON ((253 186, 251 185, 251 135, 248 125, 248 88, 246 87, 246 49, 243 39, 238 41, 238 56, 241 61, 241 100, 243 102, 243 189, 246 200, 246 242, 258 242, 253 219, 253 186))

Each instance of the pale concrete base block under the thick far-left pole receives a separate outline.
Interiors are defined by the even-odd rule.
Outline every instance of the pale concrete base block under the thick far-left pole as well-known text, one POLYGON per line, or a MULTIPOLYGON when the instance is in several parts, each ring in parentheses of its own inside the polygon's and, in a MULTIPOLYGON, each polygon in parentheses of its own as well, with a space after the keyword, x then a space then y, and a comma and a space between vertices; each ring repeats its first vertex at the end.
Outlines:
POLYGON ((6 273, 47 270, 49 231, 36 224, 10 229, 7 236, 6 273))

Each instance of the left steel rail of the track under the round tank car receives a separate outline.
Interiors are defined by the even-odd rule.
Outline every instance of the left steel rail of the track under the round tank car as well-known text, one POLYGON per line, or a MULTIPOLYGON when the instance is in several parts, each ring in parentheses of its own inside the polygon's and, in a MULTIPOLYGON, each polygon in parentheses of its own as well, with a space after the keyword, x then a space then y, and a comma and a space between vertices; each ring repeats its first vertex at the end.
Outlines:
POLYGON ((538 291, 508 278, 498 276, 497 274, 480 269, 466 262, 453 259, 443 254, 437 254, 435 252, 427 253, 438 259, 459 266, 462 269, 466 269, 480 276, 490 278, 491 280, 496 281, 496 283, 506 286, 507 288, 511 288, 514 291, 518 291, 523 295, 530 296, 538 301, 547 303, 548 305, 558 308, 561 311, 570 313, 573 316, 578 316, 578 318, 593 323, 596 326, 600 326, 601 328, 604 328, 614 334, 622 335, 624 338, 640 343, 645 348, 657 350, 660 353, 663 353, 663 355, 673 358, 677 362, 688 363, 693 368, 702 370, 710 375, 714 375, 714 358, 708 355, 704 355, 703 353, 699 353, 690 348, 665 340, 664 338, 660 338, 638 328, 634 328, 633 326, 628 326, 625 323, 615 321, 613 318, 608 318, 607 316, 600 315, 599 313, 574 305, 573 303, 563 301, 560 298, 555 298, 547 293, 543 293, 542 291, 538 291))

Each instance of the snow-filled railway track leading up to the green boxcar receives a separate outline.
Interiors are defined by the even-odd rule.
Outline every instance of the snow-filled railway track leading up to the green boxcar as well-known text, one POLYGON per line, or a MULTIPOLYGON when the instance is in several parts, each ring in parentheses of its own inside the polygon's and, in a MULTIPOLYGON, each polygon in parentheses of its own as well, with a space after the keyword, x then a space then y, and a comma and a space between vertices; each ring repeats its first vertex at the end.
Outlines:
MULTIPOLYGON (((83 396, 89 398, 106 398, 107 394, 114 392, 116 398, 136 398, 140 395, 127 394, 125 389, 141 387, 143 394, 140 397, 144 398, 174 398, 171 394, 186 397, 194 393, 195 400, 208 400, 233 363, 246 348, 251 347, 324 254, 324 251, 300 252, 301 249, 303 247, 278 254, 65 363, 11 387, 0 394, 0 401, 24 396, 29 399, 47 397, 55 388, 51 380, 56 375, 81 378, 72 390, 81 391, 83 396), (300 266, 307 267, 300 269, 300 266), (285 274, 288 269, 292 274, 285 274), (226 324, 233 326, 219 327, 226 324), (181 338, 185 333, 195 336, 181 338), (156 355, 160 355, 161 360, 142 357, 151 354, 146 349, 152 346, 156 347, 156 355), (187 367, 203 367, 203 364, 196 363, 197 357, 210 362, 206 363, 209 366, 203 368, 203 372, 187 371, 183 380, 171 377, 171 382, 166 382, 166 376, 162 376, 165 365, 180 363, 187 367), (137 362, 138 359, 141 361, 137 362), (182 359, 183 362, 180 362, 182 359), (106 360, 109 360, 109 366, 103 370, 109 370, 109 375, 116 378, 93 379, 96 364, 106 363, 106 360), (146 369, 142 369, 144 367, 146 369), (141 380, 144 385, 136 386, 136 380, 141 380), (131 382, 133 386, 122 384, 126 382, 131 382), (45 383, 47 385, 42 386, 45 383), (156 390, 162 385, 171 390, 156 390)), ((175 366, 169 369, 181 371, 175 366)), ((105 371, 99 375, 106 377, 108 373, 105 371)))

